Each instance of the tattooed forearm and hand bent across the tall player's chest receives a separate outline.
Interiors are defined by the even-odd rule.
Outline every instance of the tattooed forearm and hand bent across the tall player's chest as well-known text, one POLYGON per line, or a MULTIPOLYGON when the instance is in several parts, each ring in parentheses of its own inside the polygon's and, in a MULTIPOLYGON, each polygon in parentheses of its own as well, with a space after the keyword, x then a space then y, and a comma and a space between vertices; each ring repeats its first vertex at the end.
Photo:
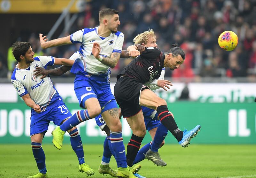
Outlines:
POLYGON ((110 68, 116 67, 116 64, 120 58, 121 53, 112 53, 110 58, 105 58, 100 55, 100 45, 99 43, 93 43, 92 54, 98 59, 102 64, 109 66, 110 68))

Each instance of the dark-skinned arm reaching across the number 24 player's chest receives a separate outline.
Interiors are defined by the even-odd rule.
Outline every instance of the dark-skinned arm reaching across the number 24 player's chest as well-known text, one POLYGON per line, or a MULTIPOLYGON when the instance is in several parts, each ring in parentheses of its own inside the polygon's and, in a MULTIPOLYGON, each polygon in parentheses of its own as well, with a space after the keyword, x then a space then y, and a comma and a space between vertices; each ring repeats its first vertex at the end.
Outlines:
POLYGON ((53 75, 53 76, 60 76, 62 74, 65 74, 71 69, 71 66, 60 66, 59 68, 54 68, 54 69, 45 69, 45 68, 40 68, 36 67, 36 72, 34 75, 42 75, 40 79, 45 78, 47 75, 53 75))

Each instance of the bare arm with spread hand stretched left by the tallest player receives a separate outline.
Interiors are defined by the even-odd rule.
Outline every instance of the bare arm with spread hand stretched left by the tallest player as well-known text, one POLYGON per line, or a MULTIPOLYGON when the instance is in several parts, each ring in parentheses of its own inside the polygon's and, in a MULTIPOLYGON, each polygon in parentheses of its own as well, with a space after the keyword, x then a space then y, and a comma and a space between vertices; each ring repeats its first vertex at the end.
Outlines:
POLYGON ((53 39, 50 41, 47 41, 48 39, 46 38, 46 35, 43 36, 43 33, 39 33, 39 39, 40 39, 40 44, 43 49, 53 47, 53 46, 61 46, 61 45, 68 45, 72 44, 70 40, 70 35, 63 37, 63 38, 57 38, 53 39))

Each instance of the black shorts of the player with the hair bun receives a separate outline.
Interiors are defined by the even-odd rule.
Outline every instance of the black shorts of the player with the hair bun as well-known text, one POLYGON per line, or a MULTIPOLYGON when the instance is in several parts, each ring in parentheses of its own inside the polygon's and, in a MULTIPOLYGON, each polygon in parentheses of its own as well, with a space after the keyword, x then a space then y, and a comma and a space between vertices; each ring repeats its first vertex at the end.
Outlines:
POLYGON ((114 95, 124 118, 140 112, 140 92, 144 89, 149 88, 131 77, 123 76, 117 80, 114 95))

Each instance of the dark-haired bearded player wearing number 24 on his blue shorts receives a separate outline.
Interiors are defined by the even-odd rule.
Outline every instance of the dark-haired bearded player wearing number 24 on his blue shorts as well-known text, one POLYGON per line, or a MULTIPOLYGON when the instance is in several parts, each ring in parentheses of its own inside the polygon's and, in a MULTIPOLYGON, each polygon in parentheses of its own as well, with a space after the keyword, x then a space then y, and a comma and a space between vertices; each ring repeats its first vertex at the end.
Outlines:
MULTIPOLYGON (((11 81, 20 97, 31 107, 31 146, 39 169, 38 174, 28 178, 47 178, 45 154, 42 148, 44 134, 48 130, 50 121, 53 121, 55 125, 60 125, 72 115, 53 86, 51 78, 46 76, 44 79, 39 79, 40 76, 37 77, 33 73, 37 67, 46 68, 54 64, 72 66, 74 61, 52 56, 34 57, 30 43, 20 41, 12 45, 12 53, 18 65, 13 71, 11 81)), ((82 140, 76 127, 68 132, 71 146, 79 160, 79 170, 87 175, 94 174, 94 171, 84 162, 82 140)))

